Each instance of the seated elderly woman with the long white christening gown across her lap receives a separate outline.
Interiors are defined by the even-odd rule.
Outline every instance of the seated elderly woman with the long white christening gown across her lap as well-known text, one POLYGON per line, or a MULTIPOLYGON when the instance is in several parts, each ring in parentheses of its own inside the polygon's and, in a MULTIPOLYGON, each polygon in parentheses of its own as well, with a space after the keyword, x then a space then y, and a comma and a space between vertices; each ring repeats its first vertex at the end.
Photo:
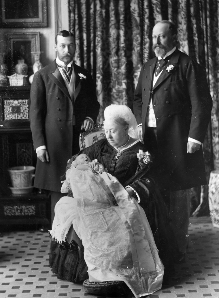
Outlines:
POLYGON ((74 283, 87 279, 88 272, 89 293, 99 289, 101 294, 101 282, 117 280, 143 297, 162 286, 160 258, 168 271, 173 269, 168 217, 156 190, 152 157, 135 137, 132 111, 110 105, 104 119, 106 139, 78 156, 86 154, 108 173, 77 174, 88 168, 77 170, 76 156, 68 162, 65 178, 71 192, 55 208, 50 234, 60 245, 52 243, 49 264, 58 278, 74 283))

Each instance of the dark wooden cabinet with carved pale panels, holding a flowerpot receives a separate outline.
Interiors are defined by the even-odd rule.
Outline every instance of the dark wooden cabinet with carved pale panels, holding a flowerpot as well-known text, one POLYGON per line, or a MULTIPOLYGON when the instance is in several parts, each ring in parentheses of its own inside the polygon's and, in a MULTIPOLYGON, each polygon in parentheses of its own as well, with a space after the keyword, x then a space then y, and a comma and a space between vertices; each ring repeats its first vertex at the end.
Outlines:
POLYGON ((29 97, 30 86, 0 87, 0 224, 5 226, 15 223, 45 225, 50 220, 47 193, 42 194, 34 189, 28 195, 14 196, 9 188, 8 168, 36 166, 37 156, 30 130, 29 97), (28 213, 31 208, 32 214, 28 213), (9 215, 9 210, 14 213, 9 215))

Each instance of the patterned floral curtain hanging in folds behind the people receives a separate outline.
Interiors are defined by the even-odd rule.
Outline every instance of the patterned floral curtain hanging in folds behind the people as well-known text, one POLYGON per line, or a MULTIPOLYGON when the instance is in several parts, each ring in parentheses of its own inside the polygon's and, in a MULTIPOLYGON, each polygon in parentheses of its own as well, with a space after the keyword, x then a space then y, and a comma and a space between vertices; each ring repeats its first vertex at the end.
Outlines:
MULTIPOLYGON (((76 36, 75 62, 90 70, 96 81, 98 122, 112 103, 132 108, 141 66, 154 57, 154 24, 165 19, 176 25, 178 48, 206 69, 213 99, 212 123, 203 144, 209 180, 211 170, 219 169, 218 1, 69 0, 69 18, 76 36)), ((193 216, 209 215, 208 185, 192 189, 191 207, 193 216)))

